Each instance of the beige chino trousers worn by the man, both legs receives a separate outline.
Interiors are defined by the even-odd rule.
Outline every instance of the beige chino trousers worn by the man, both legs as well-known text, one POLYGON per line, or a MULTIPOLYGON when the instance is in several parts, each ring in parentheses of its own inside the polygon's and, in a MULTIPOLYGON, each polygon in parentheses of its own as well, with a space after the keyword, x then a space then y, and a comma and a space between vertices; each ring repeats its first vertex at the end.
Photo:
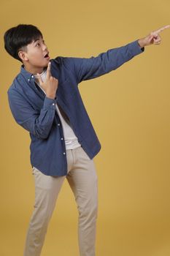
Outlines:
MULTIPOLYGON (((80 256, 95 256, 98 212, 96 168, 93 159, 88 157, 82 147, 66 150, 66 158, 68 164, 67 176, 46 176, 36 167, 33 167, 35 203, 28 226, 24 256, 41 255, 47 226, 65 178, 74 193, 79 211, 78 240, 80 256)), ((57 246, 56 255, 58 255, 57 246)))

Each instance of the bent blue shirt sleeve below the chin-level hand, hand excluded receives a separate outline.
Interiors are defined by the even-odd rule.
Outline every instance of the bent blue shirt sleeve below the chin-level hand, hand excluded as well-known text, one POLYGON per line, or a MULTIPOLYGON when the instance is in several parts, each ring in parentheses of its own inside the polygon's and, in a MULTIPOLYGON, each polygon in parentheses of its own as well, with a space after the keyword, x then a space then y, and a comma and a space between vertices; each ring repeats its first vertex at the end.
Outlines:
POLYGON ((45 139, 50 133, 55 116, 56 99, 45 97, 40 111, 35 110, 15 89, 7 91, 12 116, 21 127, 31 132, 36 138, 45 139))

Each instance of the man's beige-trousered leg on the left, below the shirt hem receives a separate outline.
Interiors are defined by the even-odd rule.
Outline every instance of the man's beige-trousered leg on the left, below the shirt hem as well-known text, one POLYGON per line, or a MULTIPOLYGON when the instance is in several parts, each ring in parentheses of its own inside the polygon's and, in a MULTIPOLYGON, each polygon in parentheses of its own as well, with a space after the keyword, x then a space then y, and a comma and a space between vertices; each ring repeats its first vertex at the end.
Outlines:
POLYGON ((53 214, 55 202, 64 178, 46 176, 33 167, 35 178, 34 212, 28 227, 24 256, 39 256, 45 241, 47 225, 53 214))

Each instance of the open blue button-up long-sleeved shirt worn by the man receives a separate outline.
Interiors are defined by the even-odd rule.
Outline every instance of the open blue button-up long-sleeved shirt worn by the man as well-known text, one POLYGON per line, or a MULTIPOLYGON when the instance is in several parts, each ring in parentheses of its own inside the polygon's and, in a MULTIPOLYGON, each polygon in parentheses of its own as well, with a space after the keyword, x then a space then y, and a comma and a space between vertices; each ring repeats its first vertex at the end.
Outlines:
POLYGON ((93 159, 98 154, 101 144, 83 105, 78 84, 107 74, 142 52, 144 48, 140 48, 138 40, 135 40, 96 57, 58 56, 51 59, 51 74, 58 78, 55 99, 46 97, 36 85, 34 75, 21 65, 20 73, 7 94, 15 121, 30 134, 32 167, 47 176, 67 174, 66 146, 56 102, 69 117, 72 129, 88 157, 93 159))

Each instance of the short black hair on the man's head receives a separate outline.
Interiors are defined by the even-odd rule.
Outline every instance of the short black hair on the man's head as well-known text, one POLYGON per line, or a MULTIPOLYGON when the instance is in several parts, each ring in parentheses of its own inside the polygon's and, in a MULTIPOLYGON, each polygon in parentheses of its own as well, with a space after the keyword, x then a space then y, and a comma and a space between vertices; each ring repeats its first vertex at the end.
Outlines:
POLYGON ((38 37, 42 37, 42 32, 36 26, 19 24, 4 33, 4 48, 13 58, 23 62, 18 56, 18 51, 26 50, 26 45, 38 37))

